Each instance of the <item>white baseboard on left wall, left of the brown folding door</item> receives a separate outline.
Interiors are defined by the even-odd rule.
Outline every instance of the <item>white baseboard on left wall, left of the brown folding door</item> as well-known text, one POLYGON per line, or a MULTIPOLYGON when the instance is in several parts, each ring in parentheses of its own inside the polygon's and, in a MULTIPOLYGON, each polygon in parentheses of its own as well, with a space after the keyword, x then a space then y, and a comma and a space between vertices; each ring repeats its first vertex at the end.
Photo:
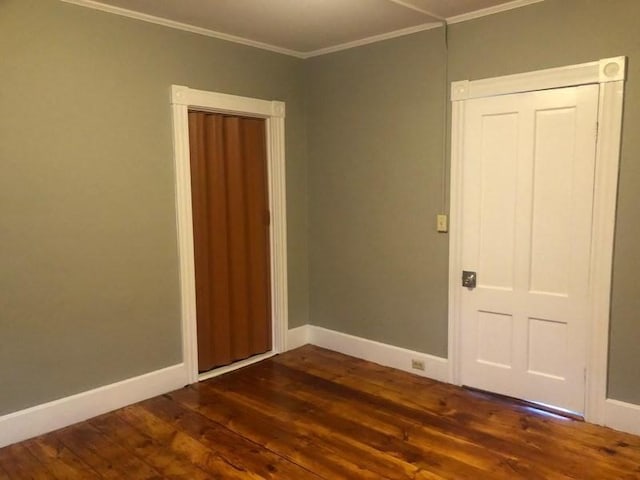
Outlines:
POLYGON ((183 363, 0 417, 0 448, 182 388, 183 363))

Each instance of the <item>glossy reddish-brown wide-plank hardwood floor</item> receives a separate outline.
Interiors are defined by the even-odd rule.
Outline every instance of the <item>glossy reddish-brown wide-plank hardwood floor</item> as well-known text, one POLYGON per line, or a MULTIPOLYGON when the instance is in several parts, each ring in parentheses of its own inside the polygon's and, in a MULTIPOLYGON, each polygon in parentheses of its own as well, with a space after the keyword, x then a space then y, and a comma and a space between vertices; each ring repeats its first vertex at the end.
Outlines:
POLYGON ((640 437, 305 346, 0 449, 6 479, 640 479, 640 437))

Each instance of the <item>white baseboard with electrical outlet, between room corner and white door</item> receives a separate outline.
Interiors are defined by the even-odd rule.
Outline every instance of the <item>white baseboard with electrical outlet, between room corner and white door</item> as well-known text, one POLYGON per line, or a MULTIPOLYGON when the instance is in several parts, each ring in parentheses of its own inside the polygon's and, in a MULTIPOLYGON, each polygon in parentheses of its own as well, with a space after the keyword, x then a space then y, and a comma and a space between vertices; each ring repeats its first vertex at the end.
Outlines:
POLYGON ((446 358, 436 357, 427 353, 415 352, 405 348, 374 342, 366 338, 347 335, 346 333, 327 330, 326 328, 308 325, 309 342, 318 347, 327 348, 335 352, 351 355, 370 362, 397 368, 405 372, 414 373, 423 377, 432 378, 441 382, 447 382, 449 377, 449 361, 446 358), (424 370, 411 368, 411 361, 418 360, 424 363, 424 370))

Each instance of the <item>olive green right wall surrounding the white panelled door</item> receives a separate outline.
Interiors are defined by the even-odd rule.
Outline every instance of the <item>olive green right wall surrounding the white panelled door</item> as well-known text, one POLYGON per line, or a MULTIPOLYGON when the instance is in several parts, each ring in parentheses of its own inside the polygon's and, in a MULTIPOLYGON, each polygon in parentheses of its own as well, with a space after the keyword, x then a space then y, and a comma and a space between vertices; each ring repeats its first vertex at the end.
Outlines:
MULTIPOLYGON (((609 390, 633 403, 640 403, 639 18, 637 0, 545 0, 452 25, 448 56, 451 81, 629 57, 609 390)), ((306 67, 311 323, 446 356, 448 238, 434 232, 442 39, 440 28, 306 67)))

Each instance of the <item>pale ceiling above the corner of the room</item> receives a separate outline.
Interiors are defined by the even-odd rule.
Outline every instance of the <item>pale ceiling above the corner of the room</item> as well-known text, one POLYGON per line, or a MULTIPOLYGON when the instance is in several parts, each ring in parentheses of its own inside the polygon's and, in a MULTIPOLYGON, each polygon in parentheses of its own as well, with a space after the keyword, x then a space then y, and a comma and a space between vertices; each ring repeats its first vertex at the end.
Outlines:
POLYGON ((63 0, 309 57, 542 0, 63 0))

